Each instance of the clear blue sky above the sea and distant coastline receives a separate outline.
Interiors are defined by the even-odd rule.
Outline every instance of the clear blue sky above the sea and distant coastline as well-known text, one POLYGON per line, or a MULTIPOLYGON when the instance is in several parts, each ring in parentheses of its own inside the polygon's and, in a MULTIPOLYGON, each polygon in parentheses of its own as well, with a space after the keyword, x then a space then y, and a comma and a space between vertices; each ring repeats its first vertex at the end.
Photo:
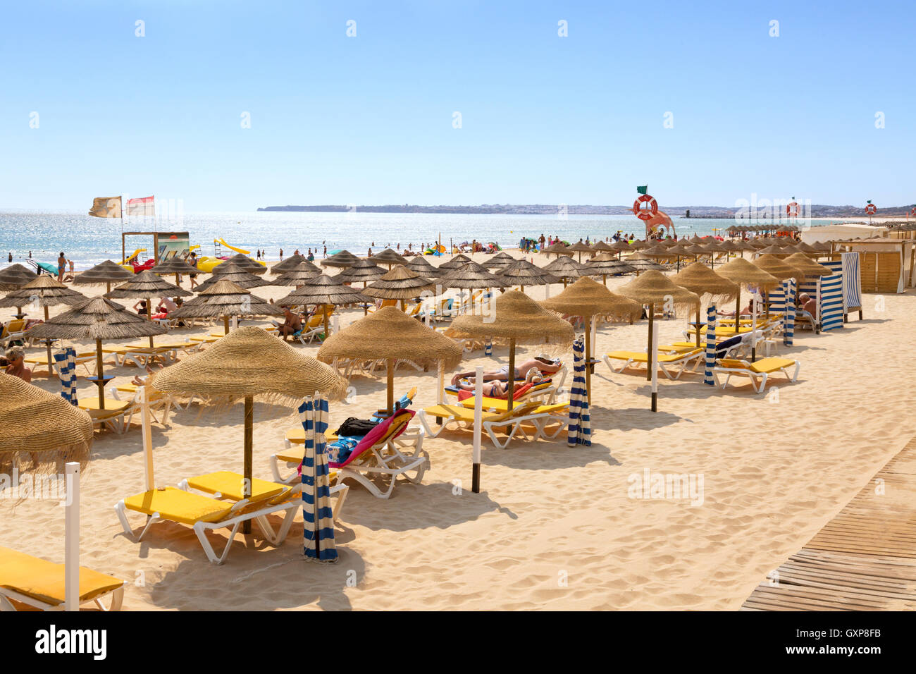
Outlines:
POLYGON ((914 45, 906 2, 7 3, 0 208, 910 204, 914 45))

